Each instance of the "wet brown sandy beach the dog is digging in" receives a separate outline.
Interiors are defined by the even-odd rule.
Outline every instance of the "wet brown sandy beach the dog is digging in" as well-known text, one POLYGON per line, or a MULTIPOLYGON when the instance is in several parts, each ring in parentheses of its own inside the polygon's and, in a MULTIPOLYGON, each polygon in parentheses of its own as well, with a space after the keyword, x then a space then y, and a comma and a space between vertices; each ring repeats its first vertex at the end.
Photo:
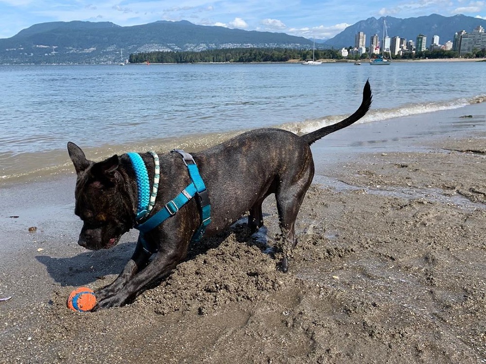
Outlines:
POLYGON ((260 232, 243 220, 102 312, 70 312, 66 298, 114 279, 136 232, 111 250, 79 247, 73 174, 1 188, 0 298, 12 298, 0 302, 0 363, 486 362, 485 108, 317 142, 288 274, 270 196, 260 232))

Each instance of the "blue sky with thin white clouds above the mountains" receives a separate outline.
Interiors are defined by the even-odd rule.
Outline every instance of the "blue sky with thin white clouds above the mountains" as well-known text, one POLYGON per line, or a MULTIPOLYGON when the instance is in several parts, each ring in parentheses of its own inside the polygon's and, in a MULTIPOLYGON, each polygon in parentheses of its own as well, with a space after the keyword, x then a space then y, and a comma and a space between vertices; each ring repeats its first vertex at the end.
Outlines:
POLYGON ((0 0, 0 38, 50 21, 110 21, 121 26, 157 20, 287 33, 328 39, 368 17, 486 19, 486 0, 0 0))

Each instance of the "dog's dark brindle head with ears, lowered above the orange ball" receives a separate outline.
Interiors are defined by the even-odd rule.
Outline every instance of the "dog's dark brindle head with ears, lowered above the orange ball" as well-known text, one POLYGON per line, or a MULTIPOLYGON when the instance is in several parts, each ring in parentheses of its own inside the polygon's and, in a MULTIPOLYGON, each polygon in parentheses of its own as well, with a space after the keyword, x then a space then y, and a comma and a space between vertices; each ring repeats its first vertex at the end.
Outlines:
POLYGON ((77 173, 74 213, 84 222, 78 244, 90 250, 110 248, 133 226, 119 157, 95 163, 71 142, 68 152, 77 173))

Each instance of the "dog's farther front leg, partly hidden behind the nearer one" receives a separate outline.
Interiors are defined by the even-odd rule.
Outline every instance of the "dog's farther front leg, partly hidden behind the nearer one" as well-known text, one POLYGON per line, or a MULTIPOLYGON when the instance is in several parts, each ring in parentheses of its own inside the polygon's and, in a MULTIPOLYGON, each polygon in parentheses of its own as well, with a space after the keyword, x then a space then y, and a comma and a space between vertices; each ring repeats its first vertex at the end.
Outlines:
POLYGON ((116 294, 137 272, 139 272, 148 263, 152 254, 148 253, 142 247, 140 238, 133 252, 132 258, 123 268, 120 275, 109 285, 99 289, 95 292, 96 300, 98 302, 104 300, 106 297, 116 294))

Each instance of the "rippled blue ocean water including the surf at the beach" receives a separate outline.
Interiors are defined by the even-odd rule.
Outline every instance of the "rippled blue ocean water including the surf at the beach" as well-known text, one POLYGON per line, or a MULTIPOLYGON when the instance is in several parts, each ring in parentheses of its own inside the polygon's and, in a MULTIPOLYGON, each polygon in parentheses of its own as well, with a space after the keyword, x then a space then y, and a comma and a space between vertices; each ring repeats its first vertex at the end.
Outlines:
POLYGON ((486 62, 0 66, 0 181, 65 173, 68 141, 95 159, 197 150, 243 130, 306 133, 360 104, 375 122, 486 101, 486 62))

